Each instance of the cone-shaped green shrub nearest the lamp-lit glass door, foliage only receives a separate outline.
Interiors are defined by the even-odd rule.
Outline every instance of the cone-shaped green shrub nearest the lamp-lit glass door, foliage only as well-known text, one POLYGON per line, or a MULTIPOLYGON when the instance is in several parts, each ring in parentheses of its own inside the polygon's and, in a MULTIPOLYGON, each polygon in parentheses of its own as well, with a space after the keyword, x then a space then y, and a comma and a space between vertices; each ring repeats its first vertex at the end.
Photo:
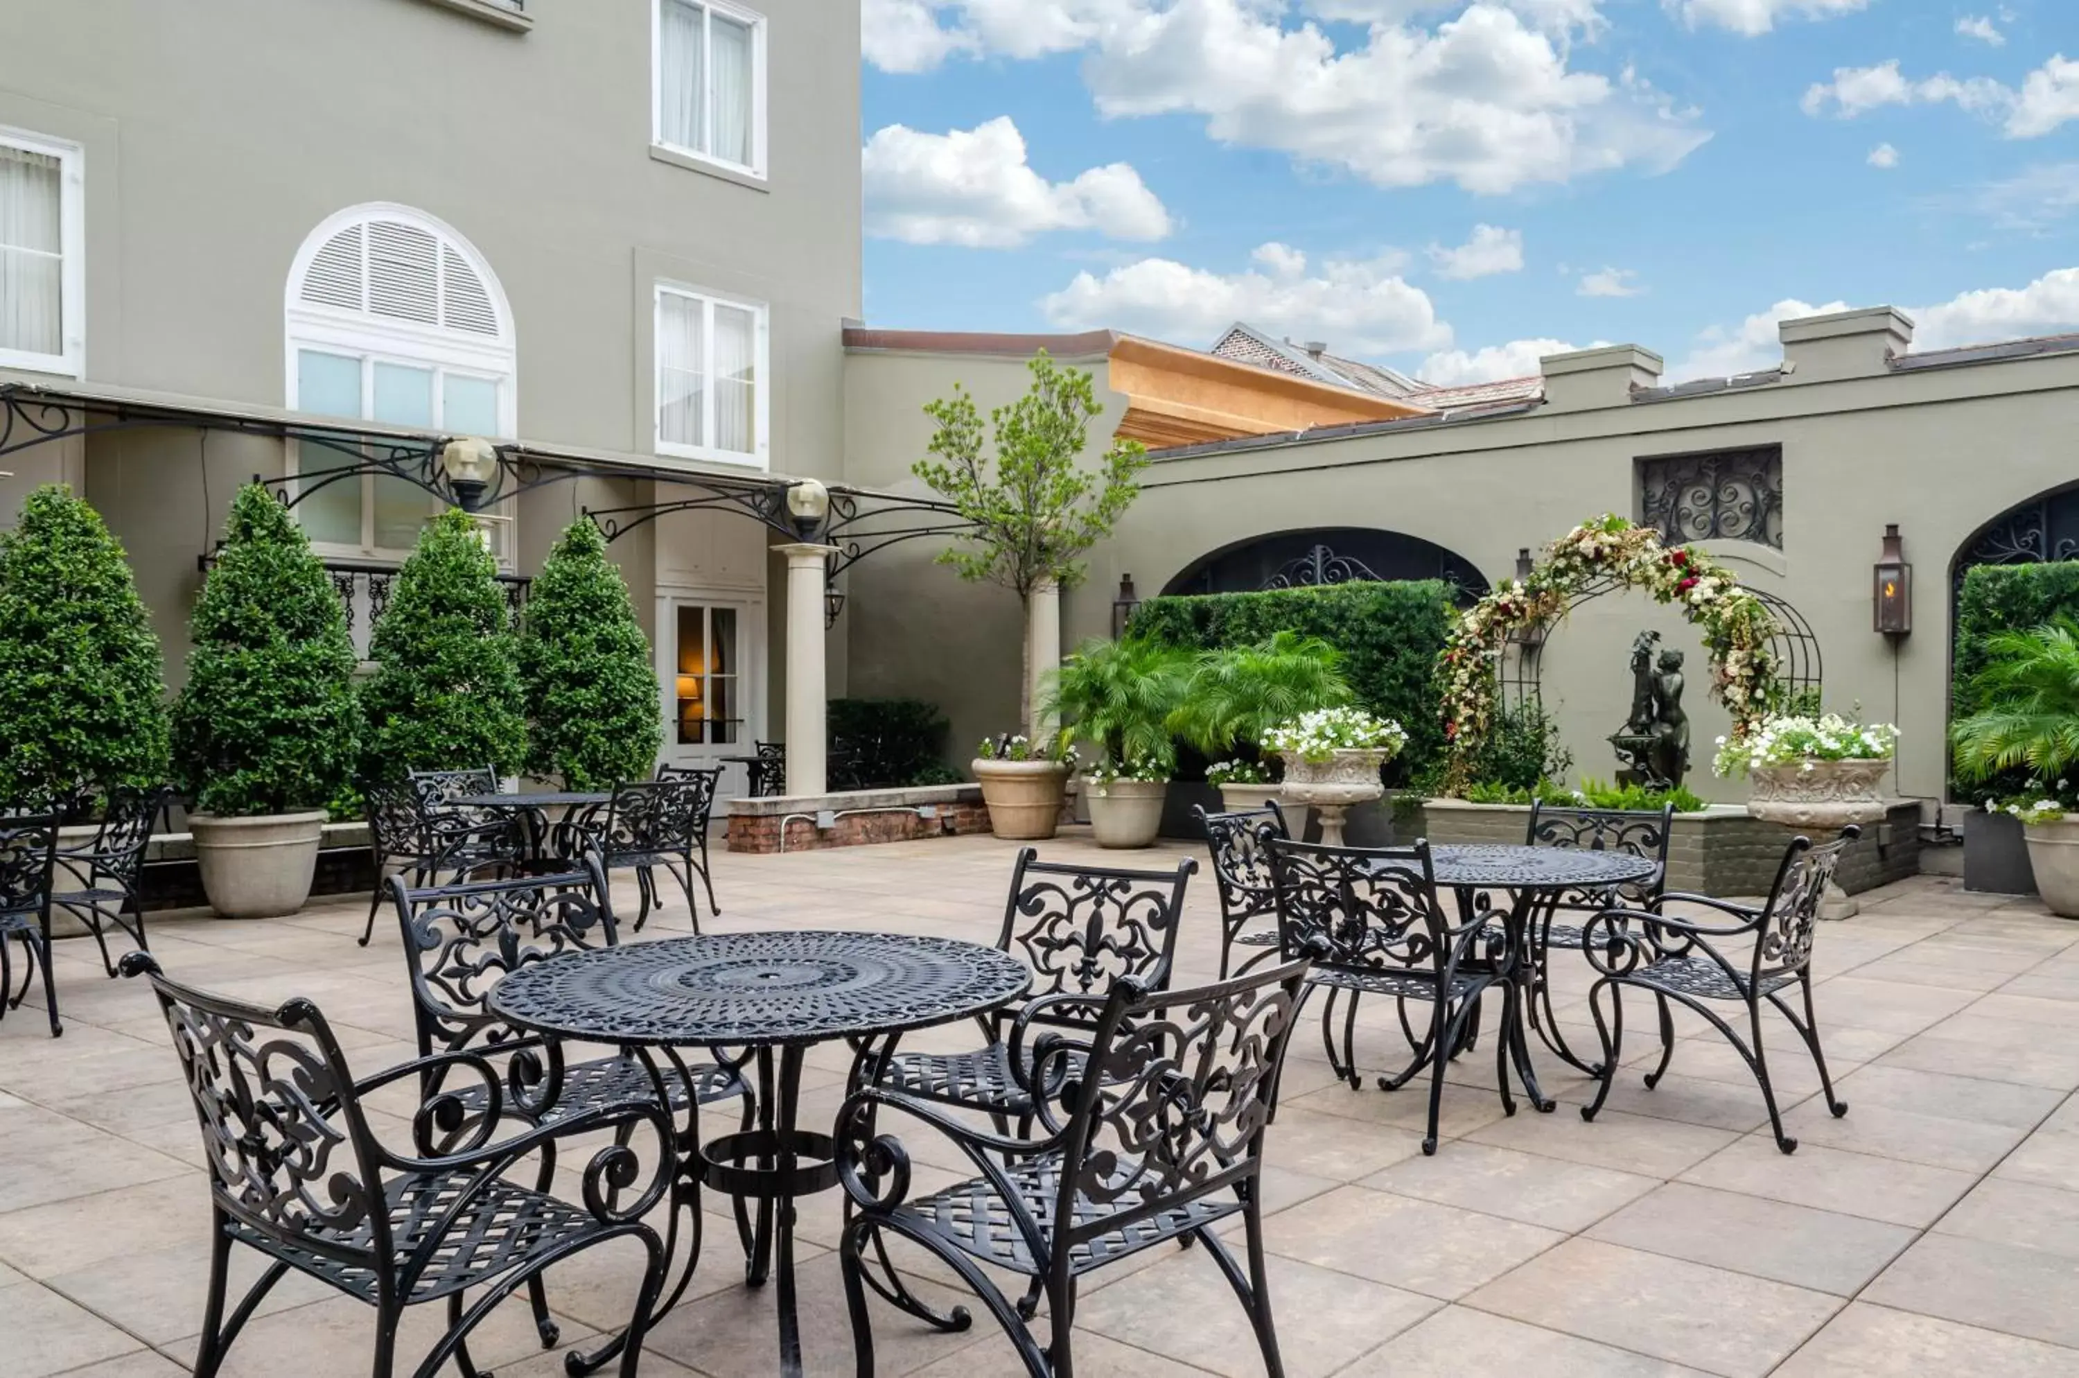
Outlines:
POLYGON ((532 775, 565 790, 644 779, 663 746, 657 667, 590 518, 572 522, 528 592, 520 634, 532 775))

